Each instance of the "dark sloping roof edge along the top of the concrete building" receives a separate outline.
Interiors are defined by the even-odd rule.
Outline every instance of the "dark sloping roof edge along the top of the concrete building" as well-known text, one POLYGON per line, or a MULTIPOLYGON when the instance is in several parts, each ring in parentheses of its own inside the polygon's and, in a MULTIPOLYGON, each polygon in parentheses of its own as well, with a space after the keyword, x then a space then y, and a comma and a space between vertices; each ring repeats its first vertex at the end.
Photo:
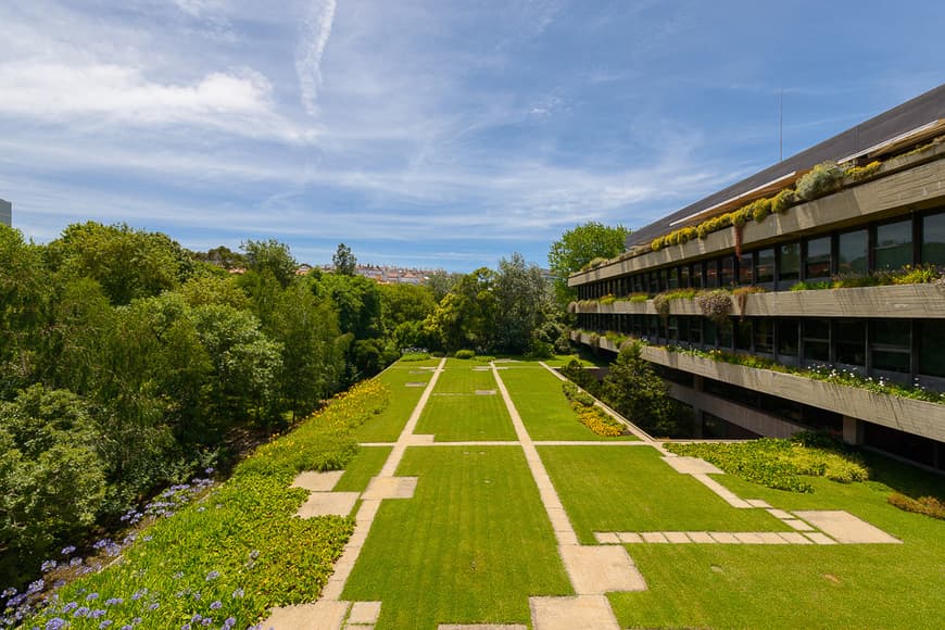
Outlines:
POLYGON ((764 189, 767 184, 784 179, 792 173, 804 173, 828 160, 859 156, 868 149, 875 149, 891 139, 942 118, 945 118, 945 84, 631 232, 627 237, 627 248, 648 244, 656 237, 702 214, 709 216, 715 206, 747 196, 756 189, 764 189))

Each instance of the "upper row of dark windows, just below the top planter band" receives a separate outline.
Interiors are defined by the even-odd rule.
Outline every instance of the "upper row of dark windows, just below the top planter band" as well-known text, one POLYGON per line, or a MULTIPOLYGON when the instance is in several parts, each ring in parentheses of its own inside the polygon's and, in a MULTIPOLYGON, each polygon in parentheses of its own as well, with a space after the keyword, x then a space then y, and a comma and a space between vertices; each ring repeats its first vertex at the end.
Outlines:
POLYGON ((945 212, 942 209, 743 252, 741 256, 728 254, 582 285, 578 287, 578 298, 751 285, 786 290, 801 280, 827 279, 837 274, 861 276, 914 264, 945 266, 945 212))

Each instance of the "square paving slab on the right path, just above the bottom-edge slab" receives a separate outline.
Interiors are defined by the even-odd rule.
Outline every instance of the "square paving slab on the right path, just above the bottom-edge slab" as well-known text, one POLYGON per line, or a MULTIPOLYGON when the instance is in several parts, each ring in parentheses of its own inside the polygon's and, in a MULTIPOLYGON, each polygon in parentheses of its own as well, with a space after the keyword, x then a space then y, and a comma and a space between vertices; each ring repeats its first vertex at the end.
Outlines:
POLYGON ((562 545, 559 551, 579 595, 646 590, 643 576, 622 546, 562 545))

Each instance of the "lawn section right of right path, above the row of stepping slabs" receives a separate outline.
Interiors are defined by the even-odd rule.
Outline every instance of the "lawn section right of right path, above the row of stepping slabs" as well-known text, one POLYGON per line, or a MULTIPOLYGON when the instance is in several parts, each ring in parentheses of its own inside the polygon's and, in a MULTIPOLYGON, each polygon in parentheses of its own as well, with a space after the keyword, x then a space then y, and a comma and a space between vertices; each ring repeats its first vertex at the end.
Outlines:
POLYGON ((731 507, 650 446, 539 446, 539 454, 583 543, 594 544, 595 531, 789 529, 764 511, 731 507))

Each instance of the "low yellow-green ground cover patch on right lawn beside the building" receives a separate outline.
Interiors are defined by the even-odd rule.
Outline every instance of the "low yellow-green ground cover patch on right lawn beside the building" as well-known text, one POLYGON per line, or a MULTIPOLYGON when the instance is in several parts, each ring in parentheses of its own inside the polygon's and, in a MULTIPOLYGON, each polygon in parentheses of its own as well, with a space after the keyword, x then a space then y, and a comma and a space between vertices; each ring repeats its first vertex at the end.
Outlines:
POLYGON ((869 478, 869 470, 855 453, 816 433, 733 443, 667 444, 666 450, 701 457, 730 475, 792 492, 814 491, 802 477, 826 477, 841 483, 869 478))

